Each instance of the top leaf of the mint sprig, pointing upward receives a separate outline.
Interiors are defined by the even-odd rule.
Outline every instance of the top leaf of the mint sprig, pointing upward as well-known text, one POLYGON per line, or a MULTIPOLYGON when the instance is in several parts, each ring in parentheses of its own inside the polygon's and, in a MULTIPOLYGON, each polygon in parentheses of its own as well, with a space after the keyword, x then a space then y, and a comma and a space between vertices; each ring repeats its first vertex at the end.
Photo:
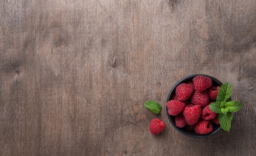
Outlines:
POLYGON ((232 86, 229 83, 221 85, 218 91, 216 102, 228 101, 232 93, 232 86))

